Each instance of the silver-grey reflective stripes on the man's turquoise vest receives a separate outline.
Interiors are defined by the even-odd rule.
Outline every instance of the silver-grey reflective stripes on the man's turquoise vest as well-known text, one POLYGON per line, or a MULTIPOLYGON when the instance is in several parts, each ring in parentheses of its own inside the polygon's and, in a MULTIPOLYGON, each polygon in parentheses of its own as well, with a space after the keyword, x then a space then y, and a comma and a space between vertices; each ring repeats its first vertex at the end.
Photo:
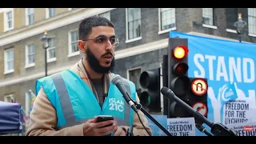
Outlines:
MULTIPOLYGON (((59 102, 62 107, 62 113, 66 120, 66 125, 58 126, 58 129, 62 129, 62 128, 68 127, 68 126, 79 125, 79 124, 86 122, 89 118, 85 118, 82 120, 77 120, 75 118, 73 106, 72 106, 72 103, 70 102, 70 95, 68 94, 68 90, 66 89, 66 85, 62 78, 62 74, 61 73, 53 74, 51 76, 51 78, 54 82, 54 86, 56 87, 58 97, 59 97, 59 102)), ((123 79, 122 82, 126 86, 126 90, 128 91, 128 93, 130 94, 130 84, 126 81, 126 79, 123 79)), ((124 101, 124 105, 125 105, 124 120, 122 118, 114 117, 115 121, 118 122, 118 126, 130 126, 131 108, 130 108, 129 104, 127 104, 127 102, 125 102, 125 101, 124 101)), ((97 114, 95 114, 95 115, 97 115, 97 114)))

